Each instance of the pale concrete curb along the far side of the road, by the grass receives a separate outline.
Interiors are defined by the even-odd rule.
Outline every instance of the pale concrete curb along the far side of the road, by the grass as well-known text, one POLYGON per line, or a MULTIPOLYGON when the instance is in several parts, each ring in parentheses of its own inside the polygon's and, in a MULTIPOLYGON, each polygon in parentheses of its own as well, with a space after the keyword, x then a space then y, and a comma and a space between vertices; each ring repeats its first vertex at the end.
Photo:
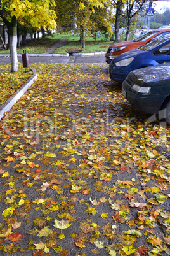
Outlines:
MULTIPOLYGON (((106 52, 73 53, 72 56, 104 55, 106 52)), ((29 57, 69 57, 69 54, 28 54, 29 57)), ((0 54, 0 57, 10 57, 10 54, 0 54)), ((22 57, 22 54, 18 54, 22 57)))

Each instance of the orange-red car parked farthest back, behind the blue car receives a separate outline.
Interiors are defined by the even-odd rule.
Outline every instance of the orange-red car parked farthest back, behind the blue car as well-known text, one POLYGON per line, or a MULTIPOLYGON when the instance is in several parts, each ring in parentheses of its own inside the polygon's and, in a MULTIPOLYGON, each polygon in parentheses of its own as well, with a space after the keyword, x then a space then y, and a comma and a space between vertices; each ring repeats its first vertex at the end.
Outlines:
POLYGON ((105 60, 108 64, 116 57, 117 55, 120 55, 121 53, 128 52, 129 50, 136 49, 142 45, 145 45, 145 43, 148 43, 148 41, 154 40, 159 38, 160 36, 163 36, 164 34, 170 33, 169 29, 155 29, 153 31, 148 32, 147 34, 143 34, 139 38, 134 39, 133 41, 123 41, 120 43, 114 43, 114 45, 111 45, 107 53, 105 54, 105 60))

